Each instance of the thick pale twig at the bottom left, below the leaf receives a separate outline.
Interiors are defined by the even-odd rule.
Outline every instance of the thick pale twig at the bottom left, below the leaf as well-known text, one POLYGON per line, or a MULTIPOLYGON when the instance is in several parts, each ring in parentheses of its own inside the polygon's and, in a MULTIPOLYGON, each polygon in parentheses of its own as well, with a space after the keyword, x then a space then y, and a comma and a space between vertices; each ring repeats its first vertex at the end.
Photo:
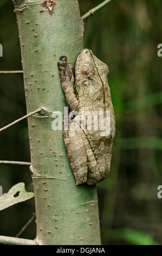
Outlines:
POLYGON ((37 245, 35 240, 0 235, 0 245, 37 245))

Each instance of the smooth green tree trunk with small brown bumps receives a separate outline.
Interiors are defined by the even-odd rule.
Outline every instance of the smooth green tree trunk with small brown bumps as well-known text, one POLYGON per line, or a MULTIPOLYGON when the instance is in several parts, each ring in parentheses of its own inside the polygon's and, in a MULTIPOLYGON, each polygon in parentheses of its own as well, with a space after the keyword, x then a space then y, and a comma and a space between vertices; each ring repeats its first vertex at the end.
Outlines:
POLYGON ((75 185, 62 131, 51 128, 51 113, 67 106, 57 61, 74 65, 83 49, 83 23, 77 0, 59 0, 53 15, 40 0, 17 0, 34 183, 37 236, 40 245, 100 245, 96 186, 75 185), (43 9, 43 11, 40 11, 43 9), (37 25, 36 25, 37 24, 37 25), (45 71, 46 70, 46 71, 45 71))

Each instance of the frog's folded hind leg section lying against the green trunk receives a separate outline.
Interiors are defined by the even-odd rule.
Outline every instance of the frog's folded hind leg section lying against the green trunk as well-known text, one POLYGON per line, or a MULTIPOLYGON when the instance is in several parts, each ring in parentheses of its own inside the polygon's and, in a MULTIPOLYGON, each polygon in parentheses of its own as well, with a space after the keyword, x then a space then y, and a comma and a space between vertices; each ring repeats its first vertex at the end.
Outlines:
MULTIPOLYGON (((75 122, 71 126, 75 126, 75 122)), ((64 144, 70 166, 76 179, 76 185, 87 182, 87 155, 81 131, 69 129, 63 131, 64 144)))

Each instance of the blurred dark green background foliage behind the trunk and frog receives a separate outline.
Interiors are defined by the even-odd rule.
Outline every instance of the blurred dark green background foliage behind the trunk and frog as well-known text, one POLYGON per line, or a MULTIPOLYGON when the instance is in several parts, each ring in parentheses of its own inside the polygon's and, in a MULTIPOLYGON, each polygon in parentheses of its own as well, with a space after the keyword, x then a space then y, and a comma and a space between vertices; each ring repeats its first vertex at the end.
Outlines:
MULTIPOLYGON (((80 0, 81 14, 100 0, 80 0)), ((85 48, 109 66, 116 117, 111 173, 98 185, 103 245, 162 244, 161 0, 113 0, 85 22, 85 48)), ((0 2, 0 70, 22 70, 14 6, 0 2)), ((0 75, 0 127, 26 114, 23 76, 0 75)), ((27 120, 0 134, 0 160, 29 161, 27 120)), ((23 181, 32 191, 28 167, 0 166, 3 192, 23 181)), ((0 211, 0 235, 15 236, 31 218, 34 199, 0 211)), ((34 239, 33 221, 21 237, 34 239)))

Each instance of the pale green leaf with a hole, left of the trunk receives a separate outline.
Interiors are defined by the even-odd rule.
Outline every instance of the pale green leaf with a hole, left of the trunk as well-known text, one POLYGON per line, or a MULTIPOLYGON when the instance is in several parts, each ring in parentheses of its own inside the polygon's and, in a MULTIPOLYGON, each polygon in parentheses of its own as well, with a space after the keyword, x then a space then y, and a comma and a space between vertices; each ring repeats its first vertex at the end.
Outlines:
POLYGON ((25 190, 25 184, 20 182, 11 187, 8 193, 4 193, 0 198, 0 211, 10 207, 11 205, 24 202, 34 197, 33 192, 25 190))

